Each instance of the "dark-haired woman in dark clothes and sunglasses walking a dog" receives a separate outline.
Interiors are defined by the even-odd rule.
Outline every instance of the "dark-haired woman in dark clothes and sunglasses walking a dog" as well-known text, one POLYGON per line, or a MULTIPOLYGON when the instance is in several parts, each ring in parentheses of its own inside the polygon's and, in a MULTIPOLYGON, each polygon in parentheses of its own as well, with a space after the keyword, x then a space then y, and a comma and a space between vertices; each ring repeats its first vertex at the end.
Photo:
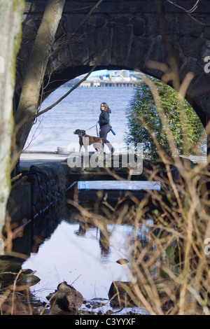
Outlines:
POLYGON ((111 126, 109 123, 109 114, 111 113, 111 109, 109 109, 109 106, 106 103, 101 104, 101 114, 99 116, 99 137, 103 138, 103 146, 104 143, 109 147, 109 151, 113 153, 115 151, 115 148, 111 145, 111 143, 106 139, 107 134, 111 130, 111 126))

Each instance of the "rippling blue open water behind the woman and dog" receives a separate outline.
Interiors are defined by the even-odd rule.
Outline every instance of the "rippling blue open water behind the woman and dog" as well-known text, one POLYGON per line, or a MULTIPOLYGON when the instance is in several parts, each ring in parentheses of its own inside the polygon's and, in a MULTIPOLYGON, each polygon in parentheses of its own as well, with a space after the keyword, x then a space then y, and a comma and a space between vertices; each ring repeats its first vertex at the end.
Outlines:
MULTIPOLYGON (((53 104, 68 90, 60 87, 52 92, 41 105, 41 110, 53 104)), ((72 146, 78 151, 78 136, 73 131, 87 130, 88 134, 97 136, 96 127, 89 128, 96 125, 102 102, 106 102, 111 108, 111 125, 116 132, 116 136, 109 132, 109 141, 116 149, 119 145, 125 146, 125 111, 133 92, 132 87, 78 87, 57 106, 38 117, 27 139, 25 150, 55 152, 57 147, 72 146)))

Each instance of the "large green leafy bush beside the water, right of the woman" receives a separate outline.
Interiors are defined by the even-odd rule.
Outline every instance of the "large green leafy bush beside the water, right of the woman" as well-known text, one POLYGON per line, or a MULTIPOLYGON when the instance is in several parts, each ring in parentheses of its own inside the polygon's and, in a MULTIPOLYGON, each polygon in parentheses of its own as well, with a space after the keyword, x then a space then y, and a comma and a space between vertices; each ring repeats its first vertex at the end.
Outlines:
MULTIPOLYGON (((205 134, 200 118, 198 118, 190 104, 186 102, 186 99, 180 99, 180 96, 178 97, 177 92, 172 87, 165 85, 158 79, 151 79, 160 95, 162 109, 164 109, 179 154, 195 154, 197 152, 195 148, 200 146, 200 137, 205 134)), ((125 141, 127 143, 134 142, 135 144, 143 143, 144 152, 149 152, 152 158, 157 158, 158 153, 153 137, 139 119, 140 117, 151 129, 165 153, 171 155, 166 129, 162 125, 160 116, 158 116, 153 94, 148 85, 142 80, 135 88, 134 97, 127 109, 129 132, 126 134, 125 141)))

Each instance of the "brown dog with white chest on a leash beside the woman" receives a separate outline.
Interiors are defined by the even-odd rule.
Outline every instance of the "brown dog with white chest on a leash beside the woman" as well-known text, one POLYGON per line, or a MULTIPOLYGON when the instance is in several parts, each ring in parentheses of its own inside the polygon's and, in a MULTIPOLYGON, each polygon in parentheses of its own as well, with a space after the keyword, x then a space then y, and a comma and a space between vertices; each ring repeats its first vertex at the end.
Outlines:
POLYGON ((89 136, 85 133, 85 130, 80 130, 77 129, 73 134, 77 134, 79 137, 79 152, 81 151, 82 146, 85 148, 85 152, 87 152, 87 146, 92 145, 94 149, 98 152, 103 153, 104 148, 102 146, 103 139, 101 137, 94 137, 94 136, 89 136))

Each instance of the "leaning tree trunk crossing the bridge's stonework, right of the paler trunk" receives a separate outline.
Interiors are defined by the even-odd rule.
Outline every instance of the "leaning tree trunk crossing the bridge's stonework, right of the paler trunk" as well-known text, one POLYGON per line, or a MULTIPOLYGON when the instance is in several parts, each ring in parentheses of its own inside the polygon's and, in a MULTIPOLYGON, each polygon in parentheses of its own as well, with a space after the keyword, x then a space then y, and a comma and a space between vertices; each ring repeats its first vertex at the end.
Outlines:
MULTIPOLYGON (((31 51, 25 81, 22 86, 18 110, 15 113, 15 147, 11 156, 11 170, 15 167, 34 124, 41 85, 48 64, 55 33, 62 17, 65 0, 48 0, 41 25, 31 51)), ((14 146, 14 145, 13 145, 14 146)))

